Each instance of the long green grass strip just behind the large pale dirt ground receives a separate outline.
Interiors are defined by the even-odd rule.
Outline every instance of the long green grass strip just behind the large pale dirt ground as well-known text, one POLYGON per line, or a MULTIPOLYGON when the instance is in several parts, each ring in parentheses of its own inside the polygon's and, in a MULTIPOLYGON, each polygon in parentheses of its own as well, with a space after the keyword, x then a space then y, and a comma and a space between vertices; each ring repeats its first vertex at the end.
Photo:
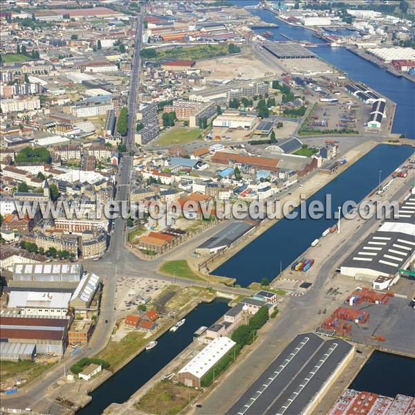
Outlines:
POLYGON ((227 44, 221 45, 198 45, 183 48, 178 46, 176 48, 157 50, 156 57, 151 60, 161 59, 208 59, 210 57, 229 55, 229 46, 227 44))

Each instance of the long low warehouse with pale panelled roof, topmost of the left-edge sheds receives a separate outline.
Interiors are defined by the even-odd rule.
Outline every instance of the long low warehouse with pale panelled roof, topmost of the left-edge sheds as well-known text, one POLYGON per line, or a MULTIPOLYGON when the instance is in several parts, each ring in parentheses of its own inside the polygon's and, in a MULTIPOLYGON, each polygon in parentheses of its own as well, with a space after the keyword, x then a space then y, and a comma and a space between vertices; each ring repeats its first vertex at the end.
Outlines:
POLYGON ((44 264, 15 264, 13 281, 79 283, 82 275, 82 264, 48 262, 44 264))

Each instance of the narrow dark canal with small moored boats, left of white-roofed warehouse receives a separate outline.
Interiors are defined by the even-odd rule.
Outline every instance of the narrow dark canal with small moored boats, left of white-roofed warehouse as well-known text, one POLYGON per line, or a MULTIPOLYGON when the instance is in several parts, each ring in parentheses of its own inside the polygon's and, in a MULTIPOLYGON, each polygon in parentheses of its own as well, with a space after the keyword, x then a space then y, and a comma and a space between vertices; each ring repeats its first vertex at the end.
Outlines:
POLYGON ((78 415, 99 415, 111 403, 123 403, 142 385, 181 353, 193 340, 200 326, 210 326, 228 311, 229 299, 218 298, 201 303, 186 316, 178 331, 167 331, 158 339, 154 349, 143 351, 109 380, 91 393, 92 401, 77 412, 78 415))

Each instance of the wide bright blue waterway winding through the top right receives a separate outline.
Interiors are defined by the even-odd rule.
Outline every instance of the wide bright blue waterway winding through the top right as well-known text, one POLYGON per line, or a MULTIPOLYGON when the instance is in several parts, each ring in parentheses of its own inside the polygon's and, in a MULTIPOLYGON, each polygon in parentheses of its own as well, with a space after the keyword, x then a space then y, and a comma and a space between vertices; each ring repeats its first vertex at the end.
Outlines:
MULTIPOLYGON (((233 1, 237 6, 248 6, 248 4, 255 4, 255 1, 233 1)), ((302 28, 301 26, 291 26, 275 17, 273 12, 269 10, 250 10, 252 15, 261 17, 267 23, 277 24, 279 28, 259 29, 257 33, 268 30, 273 33, 273 37, 269 40, 277 40, 287 42, 284 35, 291 37, 291 39, 304 40, 322 44, 324 41, 319 37, 313 35, 312 30, 302 28)), ((347 30, 349 31, 349 30, 347 30)), ((350 32, 351 33, 351 32, 350 32)), ((407 138, 415 138, 415 84, 405 78, 398 78, 385 69, 367 62, 346 48, 331 48, 330 46, 318 46, 310 48, 311 52, 320 56, 326 62, 337 66, 342 71, 347 73, 347 76, 352 80, 364 82, 371 88, 379 91, 390 100, 396 102, 396 113, 394 125, 392 127, 393 133, 405 134, 407 138)))

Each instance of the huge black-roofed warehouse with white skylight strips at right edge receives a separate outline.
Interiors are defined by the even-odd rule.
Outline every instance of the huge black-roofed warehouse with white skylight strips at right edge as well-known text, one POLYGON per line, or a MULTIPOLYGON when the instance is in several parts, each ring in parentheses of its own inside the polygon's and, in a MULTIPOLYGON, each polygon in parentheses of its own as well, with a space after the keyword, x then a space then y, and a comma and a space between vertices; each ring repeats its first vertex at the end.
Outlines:
POLYGON ((407 269, 415 258, 415 195, 399 206, 398 217, 382 223, 340 267, 342 275, 371 282, 376 289, 395 284, 398 270, 407 269))

